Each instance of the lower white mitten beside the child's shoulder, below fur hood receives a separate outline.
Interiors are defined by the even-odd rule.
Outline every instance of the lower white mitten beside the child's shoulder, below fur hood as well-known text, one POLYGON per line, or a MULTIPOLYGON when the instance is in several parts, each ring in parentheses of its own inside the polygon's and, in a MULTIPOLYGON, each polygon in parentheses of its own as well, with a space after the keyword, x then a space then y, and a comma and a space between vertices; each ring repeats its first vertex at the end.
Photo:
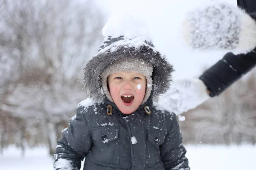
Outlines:
POLYGON ((207 87, 202 80, 176 79, 172 82, 171 89, 160 96, 158 103, 166 110, 179 115, 196 108, 207 99, 209 99, 207 87))

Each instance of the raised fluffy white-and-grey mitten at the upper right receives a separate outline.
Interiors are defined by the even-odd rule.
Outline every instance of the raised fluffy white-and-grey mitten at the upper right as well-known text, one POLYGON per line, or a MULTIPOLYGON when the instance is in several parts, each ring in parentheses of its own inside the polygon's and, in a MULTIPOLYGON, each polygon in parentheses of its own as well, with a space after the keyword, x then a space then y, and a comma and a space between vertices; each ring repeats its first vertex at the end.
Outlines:
POLYGON ((246 53, 256 47, 256 22, 238 7, 212 2, 189 11, 183 37, 192 48, 246 53))

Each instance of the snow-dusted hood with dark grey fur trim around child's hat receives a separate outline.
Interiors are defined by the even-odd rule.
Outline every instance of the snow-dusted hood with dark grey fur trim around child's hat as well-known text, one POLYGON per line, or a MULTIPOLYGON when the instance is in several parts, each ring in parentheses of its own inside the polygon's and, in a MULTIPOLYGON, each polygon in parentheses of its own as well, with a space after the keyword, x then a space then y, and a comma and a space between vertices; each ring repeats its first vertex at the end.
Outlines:
POLYGON ((152 97, 154 100, 169 89, 173 67, 151 42, 142 37, 134 39, 124 36, 106 37, 98 53, 85 64, 83 69, 84 90, 87 97, 91 98, 93 102, 103 102, 106 97, 103 90, 104 83, 102 83, 103 71, 113 63, 128 59, 127 57, 146 61, 147 64, 153 66, 152 97))

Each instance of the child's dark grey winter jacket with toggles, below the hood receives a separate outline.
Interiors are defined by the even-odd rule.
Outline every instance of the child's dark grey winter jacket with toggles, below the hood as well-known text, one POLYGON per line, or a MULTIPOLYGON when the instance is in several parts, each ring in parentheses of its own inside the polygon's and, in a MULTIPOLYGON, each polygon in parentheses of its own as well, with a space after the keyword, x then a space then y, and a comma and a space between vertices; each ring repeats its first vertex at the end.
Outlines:
POLYGON ((185 154, 174 113, 157 110, 148 99, 127 116, 105 99, 102 104, 79 105, 58 141, 55 169, 80 169, 86 157, 84 170, 189 170, 185 154), (107 114, 108 105, 112 115, 107 114))

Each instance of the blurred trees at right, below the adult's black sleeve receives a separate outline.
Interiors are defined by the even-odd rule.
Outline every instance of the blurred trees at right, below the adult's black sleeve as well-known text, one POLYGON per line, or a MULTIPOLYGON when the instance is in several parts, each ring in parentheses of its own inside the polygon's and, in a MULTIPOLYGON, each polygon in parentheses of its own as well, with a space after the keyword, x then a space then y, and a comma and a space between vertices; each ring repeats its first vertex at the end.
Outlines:
POLYGON ((256 70, 186 113, 186 121, 180 122, 184 140, 193 144, 255 144, 255 103, 256 70))

